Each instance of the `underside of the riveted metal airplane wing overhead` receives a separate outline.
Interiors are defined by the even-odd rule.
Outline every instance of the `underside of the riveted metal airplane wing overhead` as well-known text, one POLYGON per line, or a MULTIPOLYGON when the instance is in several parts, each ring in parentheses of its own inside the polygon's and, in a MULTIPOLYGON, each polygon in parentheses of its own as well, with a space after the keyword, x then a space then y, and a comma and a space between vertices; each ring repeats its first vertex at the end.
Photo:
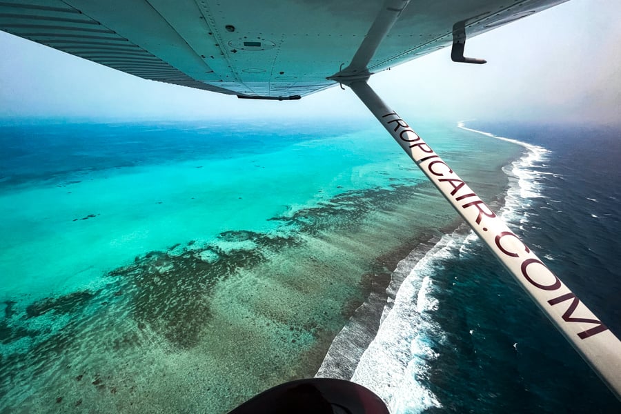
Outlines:
MULTIPOLYGON (((416 0, 368 63, 380 72, 566 0, 416 0)), ((5 0, 0 30, 154 81, 257 99, 337 84, 384 0, 5 0)), ((44 64, 44 62, 41 62, 44 64)))

